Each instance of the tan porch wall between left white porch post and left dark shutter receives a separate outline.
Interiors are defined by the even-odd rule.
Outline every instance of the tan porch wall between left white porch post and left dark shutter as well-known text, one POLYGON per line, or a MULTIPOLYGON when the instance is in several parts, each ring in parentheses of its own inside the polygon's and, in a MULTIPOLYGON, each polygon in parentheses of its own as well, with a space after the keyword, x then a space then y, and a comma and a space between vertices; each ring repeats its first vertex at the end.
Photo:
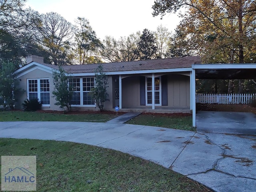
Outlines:
POLYGON ((122 108, 140 106, 140 77, 122 79, 122 108))

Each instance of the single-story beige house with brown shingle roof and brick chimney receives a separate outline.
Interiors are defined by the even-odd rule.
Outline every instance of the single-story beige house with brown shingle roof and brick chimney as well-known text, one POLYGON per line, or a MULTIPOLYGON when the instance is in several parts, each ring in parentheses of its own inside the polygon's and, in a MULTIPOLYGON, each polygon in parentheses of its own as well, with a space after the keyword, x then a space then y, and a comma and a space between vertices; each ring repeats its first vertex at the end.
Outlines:
MULTIPOLYGON (((16 71, 20 87, 26 90, 17 104, 38 98, 44 110, 61 110, 54 105, 52 72, 58 66, 45 64, 39 56, 29 56, 16 71)), ((191 112, 192 64, 200 64, 200 56, 104 63, 108 77, 108 99, 104 110, 191 112), (154 98, 154 99, 152 99, 154 98)), ((95 70, 99 64, 62 66, 74 87, 72 110, 98 110, 89 96, 94 87, 95 70)))

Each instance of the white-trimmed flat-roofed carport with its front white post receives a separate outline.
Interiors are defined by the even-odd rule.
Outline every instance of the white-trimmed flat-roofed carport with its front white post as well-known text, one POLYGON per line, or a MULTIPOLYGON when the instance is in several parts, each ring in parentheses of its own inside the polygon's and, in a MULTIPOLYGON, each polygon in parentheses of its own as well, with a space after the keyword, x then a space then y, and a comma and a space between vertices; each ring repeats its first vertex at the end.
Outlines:
POLYGON ((256 64, 193 64, 192 122, 196 127, 196 79, 256 79, 256 64))

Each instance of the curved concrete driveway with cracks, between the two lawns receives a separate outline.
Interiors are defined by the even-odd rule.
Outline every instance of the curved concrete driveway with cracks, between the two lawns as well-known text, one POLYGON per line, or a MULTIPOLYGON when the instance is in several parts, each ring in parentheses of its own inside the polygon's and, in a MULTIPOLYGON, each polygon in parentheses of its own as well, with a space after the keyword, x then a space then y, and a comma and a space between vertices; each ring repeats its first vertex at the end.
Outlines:
POLYGON ((0 137, 111 148, 171 168, 217 192, 255 192, 256 136, 118 123, 0 122, 0 137))

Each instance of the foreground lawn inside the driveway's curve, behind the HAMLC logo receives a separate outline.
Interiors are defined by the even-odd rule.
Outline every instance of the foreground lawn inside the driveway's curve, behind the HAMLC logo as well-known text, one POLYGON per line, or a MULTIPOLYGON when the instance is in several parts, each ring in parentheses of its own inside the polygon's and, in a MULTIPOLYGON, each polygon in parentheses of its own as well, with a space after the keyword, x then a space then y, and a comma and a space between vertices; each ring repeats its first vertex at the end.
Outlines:
POLYGON ((37 156, 38 192, 211 192, 147 160, 86 144, 0 138, 1 155, 37 156))

